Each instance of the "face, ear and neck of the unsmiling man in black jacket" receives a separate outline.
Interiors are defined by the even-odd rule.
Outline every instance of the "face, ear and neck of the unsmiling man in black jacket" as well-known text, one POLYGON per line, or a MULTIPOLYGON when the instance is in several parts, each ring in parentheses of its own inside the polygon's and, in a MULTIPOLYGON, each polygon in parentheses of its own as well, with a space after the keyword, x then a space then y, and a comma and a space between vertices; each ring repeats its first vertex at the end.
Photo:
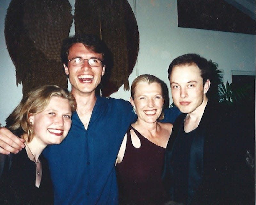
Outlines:
POLYGON ((179 65, 172 69, 170 85, 174 104, 181 112, 187 113, 184 122, 186 133, 198 127, 207 105, 206 93, 210 88, 210 81, 203 84, 200 69, 192 65, 179 65))

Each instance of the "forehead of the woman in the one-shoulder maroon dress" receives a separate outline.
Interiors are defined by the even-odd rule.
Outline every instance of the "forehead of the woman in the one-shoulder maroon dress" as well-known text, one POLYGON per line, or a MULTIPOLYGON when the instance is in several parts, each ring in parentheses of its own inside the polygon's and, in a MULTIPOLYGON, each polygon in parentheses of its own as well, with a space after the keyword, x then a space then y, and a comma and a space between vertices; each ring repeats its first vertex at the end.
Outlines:
POLYGON ((145 81, 140 81, 136 84, 135 87, 135 95, 143 95, 143 94, 150 94, 150 93, 162 93, 162 88, 159 83, 153 82, 148 83, 145 81))

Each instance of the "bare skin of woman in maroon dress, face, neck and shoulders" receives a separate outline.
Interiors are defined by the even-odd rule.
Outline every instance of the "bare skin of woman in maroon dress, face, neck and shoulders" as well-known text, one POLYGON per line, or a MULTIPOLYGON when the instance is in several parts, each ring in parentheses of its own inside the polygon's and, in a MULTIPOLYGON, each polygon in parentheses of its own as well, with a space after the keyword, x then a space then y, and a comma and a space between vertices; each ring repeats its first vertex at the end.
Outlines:
MULTIPOLYGON (((164 105, 161 86, 156 82, 151 84, 147 82, 137 83, 134 99, 131 97, 130 102, 136 109, 138 116, 132 127, 152 143, 166 148, 172 132, 172 124, 157 122, 164 105)), ((140 139, 133 130, 130 130, 130 132, 133 146, 139 148, 141 146, 140 139)), ((116 164, 121 163, 123 160, 126 142, 127 136, 125 135, 117 155, 116 164)))

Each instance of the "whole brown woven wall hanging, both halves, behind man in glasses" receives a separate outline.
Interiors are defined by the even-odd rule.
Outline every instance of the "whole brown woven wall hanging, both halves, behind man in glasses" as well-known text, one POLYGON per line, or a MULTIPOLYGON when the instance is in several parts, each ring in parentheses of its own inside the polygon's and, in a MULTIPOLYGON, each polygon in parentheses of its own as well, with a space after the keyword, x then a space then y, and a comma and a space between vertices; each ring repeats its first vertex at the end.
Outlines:
MULTIPOLYGON (((123 84, 128 90, 139 51, 139 31, 127 0, 76 0, 74 20, 76 34, 98 35, 112 52, 113 67, 106 68, 100 84, 102 95, 109 96, 123 84)), ((67 88, 60 50, 72 22, 68 0, 11 1, 5 40, 23 95, 44 84, 67 88)))

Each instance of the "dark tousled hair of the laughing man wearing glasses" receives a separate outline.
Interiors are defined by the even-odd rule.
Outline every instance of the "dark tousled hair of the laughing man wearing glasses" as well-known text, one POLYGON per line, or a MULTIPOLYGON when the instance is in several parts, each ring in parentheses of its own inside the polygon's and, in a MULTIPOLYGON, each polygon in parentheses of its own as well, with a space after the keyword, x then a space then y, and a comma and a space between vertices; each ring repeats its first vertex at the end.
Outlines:
POLYGON ((103 61, 102 65, 108 67, 108 63, 110 61, 110 51, 108 50, 107 45, 96 35, 92 34, 83 34, 83 35, 74 35, 63 40, 62 50, 61 50, 61 62, 68 66, 68 54, 69 49, 75 43, 82 43, 86 46, 90 51, 95 53, 102 54, 103 61))

